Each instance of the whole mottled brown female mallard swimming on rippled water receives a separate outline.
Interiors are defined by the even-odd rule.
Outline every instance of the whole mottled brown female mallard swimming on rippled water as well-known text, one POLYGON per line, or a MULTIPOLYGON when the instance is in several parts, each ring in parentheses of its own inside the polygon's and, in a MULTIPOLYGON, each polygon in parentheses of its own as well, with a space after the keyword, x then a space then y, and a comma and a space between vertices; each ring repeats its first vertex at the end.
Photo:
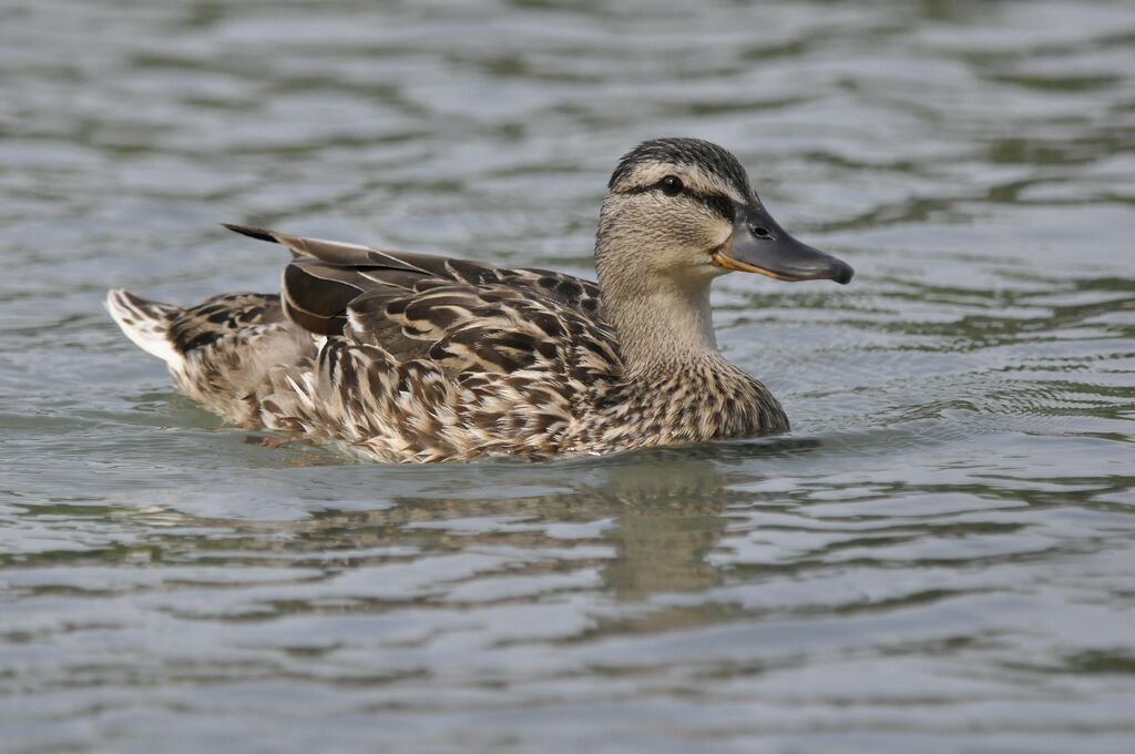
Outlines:
POLYGON ((547 458, 789 427, 717 352, 709 283, 730 270, 847 283, 781 229, 730 152, 636 146, 608 183, 598 285, 562 273, 301 238, 283 296, 107 305, 178 387, 245 427, 345 441, 380 461, 547 458))

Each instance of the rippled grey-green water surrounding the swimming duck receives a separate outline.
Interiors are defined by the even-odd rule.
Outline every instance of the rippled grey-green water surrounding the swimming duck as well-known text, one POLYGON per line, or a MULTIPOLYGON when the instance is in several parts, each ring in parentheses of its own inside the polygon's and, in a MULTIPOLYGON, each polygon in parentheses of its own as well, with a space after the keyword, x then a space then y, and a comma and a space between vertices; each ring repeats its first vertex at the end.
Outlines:
POLYGON ((1129 752, 1135 10, 0 10, 3 752, 1129 752), (362 464, 101 308, 272 291, 218 221, 589 271, 640 139, 846 288, 734 275, 782 438, 362 464))

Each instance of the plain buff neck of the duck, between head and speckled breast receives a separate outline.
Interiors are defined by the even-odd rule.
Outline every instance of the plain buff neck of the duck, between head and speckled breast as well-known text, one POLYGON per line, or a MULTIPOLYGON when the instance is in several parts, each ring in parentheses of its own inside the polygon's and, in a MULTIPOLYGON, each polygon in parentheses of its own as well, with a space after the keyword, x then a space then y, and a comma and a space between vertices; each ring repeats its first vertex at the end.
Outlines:
POLYGON ((634 263, 597 267, 604 315, 619 332, 628 377, 721 360, 709 307, 712 276, 651 273, 634 263))

